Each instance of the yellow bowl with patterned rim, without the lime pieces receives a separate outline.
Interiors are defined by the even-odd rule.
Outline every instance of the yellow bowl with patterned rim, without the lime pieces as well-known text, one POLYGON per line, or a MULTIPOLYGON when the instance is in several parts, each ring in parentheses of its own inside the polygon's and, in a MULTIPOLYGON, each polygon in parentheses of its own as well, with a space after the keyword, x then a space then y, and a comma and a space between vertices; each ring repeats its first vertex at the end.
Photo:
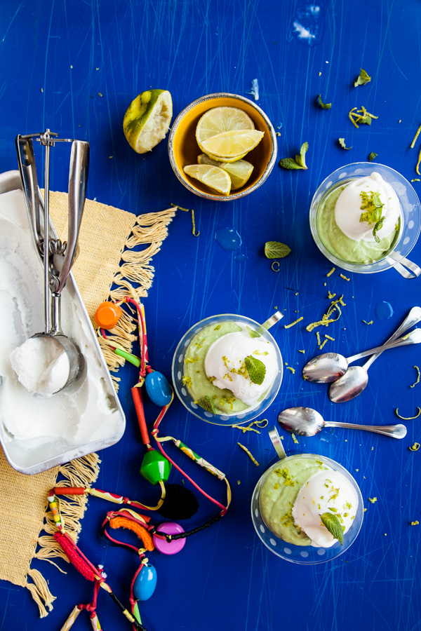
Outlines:
POLYGON ((265 182, 276 162, 276 133, 265 112, 252 101, 238 94, 208 94, 190 103, 175 118, 168 139, 168 154, 175 175, 189 191, 206 199, 229 201, 248 195, 265 182), (199 118, 208 109, 221 106, 243 109, 252 118, 255 128, 265 132, 258 146, 249 151, 244 157, 245 160, 254 166, 250 179, 241 189, 237 189, 229 195, 213 192, 208 186, 201 184, 193 177, 189 177, 183 171, 183 167, 188 164, 196 164, 197 156, 202 153, 196 142, 196 125, 199 122, 199 118))

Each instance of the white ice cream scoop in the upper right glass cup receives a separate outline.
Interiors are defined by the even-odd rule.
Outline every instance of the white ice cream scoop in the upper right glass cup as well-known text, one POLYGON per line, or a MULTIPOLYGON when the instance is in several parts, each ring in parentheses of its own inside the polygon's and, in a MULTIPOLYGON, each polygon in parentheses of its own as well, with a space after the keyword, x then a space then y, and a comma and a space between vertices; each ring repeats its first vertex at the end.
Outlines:
POLYGON ((335 221, 340 230, 354 240, 374 241, 373 223, 361 222, 361 192, 368 195, 377 193, 383 205, 382 216, 385 220, 377 237, 382 239, 389 236, 396 230, 399 222, 400 203, 393 186, 385 182, 380 173, 373 172, 371 175, 360 177, 349 182, 342 191, 335 204, 335 221))

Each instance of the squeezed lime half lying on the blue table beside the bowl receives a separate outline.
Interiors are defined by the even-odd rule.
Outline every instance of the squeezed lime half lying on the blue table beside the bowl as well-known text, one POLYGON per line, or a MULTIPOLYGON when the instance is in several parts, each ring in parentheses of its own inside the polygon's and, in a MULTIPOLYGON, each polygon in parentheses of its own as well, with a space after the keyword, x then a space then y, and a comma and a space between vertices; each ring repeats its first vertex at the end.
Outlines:
POLYGON ((172 116, 173 100, 168 90, 145 90, 124 114, 123 131, 128 144, 138 154, 151 151, 166 137, 172 116))

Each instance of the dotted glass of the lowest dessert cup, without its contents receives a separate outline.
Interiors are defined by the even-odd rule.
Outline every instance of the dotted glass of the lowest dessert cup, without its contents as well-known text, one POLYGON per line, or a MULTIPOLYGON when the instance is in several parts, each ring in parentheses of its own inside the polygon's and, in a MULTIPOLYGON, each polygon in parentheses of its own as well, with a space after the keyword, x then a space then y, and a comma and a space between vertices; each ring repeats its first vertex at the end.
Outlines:
POLYGON ((315 565, 316 563, 323 563, 336 559, 336 557, 342 555, 342 552, 345 552, 345 550, 354 543, 363 522, 363 508, 363 497, 361 496, 358 484, 356 484, 352 475, 338 462, 335 462, 330 458, 326 458, 325 456, 316 456, 315 454, 294 454, 293 456, 287 456, 281 461, 276 460, 276 462, 265 471, 262 477, 260 477, 260 480, 253 491, 253 497, 251 498, 251 519, 260 541, 262 541, 262 543, 264 543, 271 552, 274 552, 277 557, 281 557, 281 559, 285 559, 286 561, 293 563, 315 565), (334 471, 338 471, 338 473, 345 475, 356 491, 359 499, 358 509, 356 511, 354 522, 352 522, 352 527, 344 534, 344 543, 342 545, 340 545, 339 541, 337 541, 331 548, 314 548, 312 545, 294 545, 293 543, 286 543, 286 541, 283 541, 279 538, 279 536, 276 536, 276 534, 274 534, 267 526, 265 520, 263 520, 262 514, 260 513, 260 490, 262 489, 262 485, 267 476, 270 475, 274 469, 279 467, 280 463, 282 463, 282 466, 288 466, 288 463, 297 459, 301 460, 303 458, 326 463, 326 465, 334 471))

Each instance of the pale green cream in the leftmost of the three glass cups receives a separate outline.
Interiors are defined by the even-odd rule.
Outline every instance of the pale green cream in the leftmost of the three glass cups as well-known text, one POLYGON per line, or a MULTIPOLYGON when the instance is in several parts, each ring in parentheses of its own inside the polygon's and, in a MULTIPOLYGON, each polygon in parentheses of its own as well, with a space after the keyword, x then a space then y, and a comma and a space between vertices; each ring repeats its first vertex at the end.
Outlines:
POLYGON ((227 388, 221 390, 221 388, 213 386, 205 372, 205 358, 208 348, 222 335, 237 331, 241 331, 241 327, 235 322, 209 325, 194 336, 185 354, 183 383, 189 389, 194 400, 209 397, 218 414, 239 414, 249 407, 234 397, 227 388))

